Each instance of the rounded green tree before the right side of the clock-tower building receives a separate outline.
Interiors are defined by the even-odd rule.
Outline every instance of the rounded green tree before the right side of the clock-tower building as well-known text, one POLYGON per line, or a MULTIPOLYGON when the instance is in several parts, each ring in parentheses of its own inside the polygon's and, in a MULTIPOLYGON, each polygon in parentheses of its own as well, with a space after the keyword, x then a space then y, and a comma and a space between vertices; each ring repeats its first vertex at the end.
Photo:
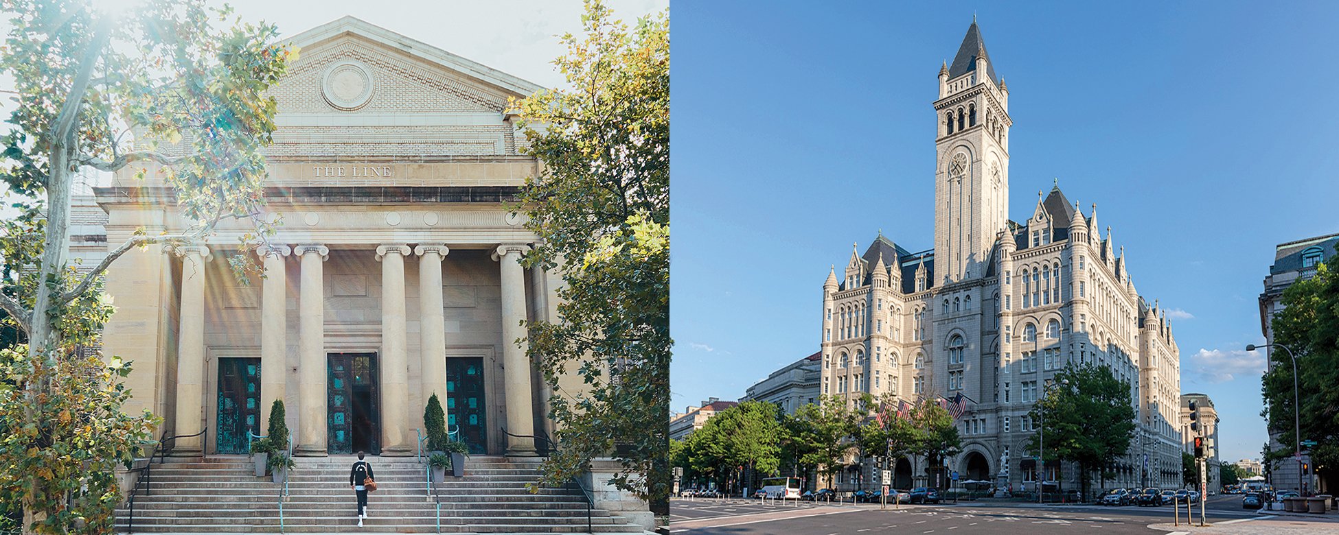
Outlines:
MULTIPOLYGON (((1130 384, 1115 377, 1110 368, 1097 364, 1071 364, 1055 373, 1055 381, 1060 384, 1051 387, 1028 416, 1046 425, 1043 461, 1059 459, 1077 463, 1079 486, 1086 496, 1090 472, 1098 471, 1105 487, 1105 468, 1130 449, 1135 427, 1130 384)), ((1036 451, 1038 441, 1039 435, 1032 435, 1027 447, 1036 451)))

